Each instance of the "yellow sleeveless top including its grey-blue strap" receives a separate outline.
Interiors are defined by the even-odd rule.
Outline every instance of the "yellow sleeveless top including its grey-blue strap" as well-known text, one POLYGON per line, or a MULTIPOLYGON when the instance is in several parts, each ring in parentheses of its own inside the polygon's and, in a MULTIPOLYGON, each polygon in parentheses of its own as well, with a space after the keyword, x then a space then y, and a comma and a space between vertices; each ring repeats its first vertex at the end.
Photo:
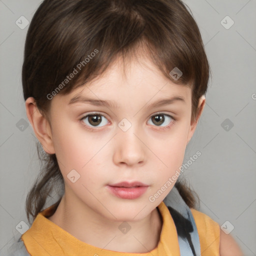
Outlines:
POLYGON ((219 256, 219 224, 188 208, 175 187, 157 206, 162 217, 160 239, 145 253, 118 252, 82 242, 47 219, 54 213, 53 208, 54 204, 37 214, 31 227, 12 244, 9 256, 219 256))

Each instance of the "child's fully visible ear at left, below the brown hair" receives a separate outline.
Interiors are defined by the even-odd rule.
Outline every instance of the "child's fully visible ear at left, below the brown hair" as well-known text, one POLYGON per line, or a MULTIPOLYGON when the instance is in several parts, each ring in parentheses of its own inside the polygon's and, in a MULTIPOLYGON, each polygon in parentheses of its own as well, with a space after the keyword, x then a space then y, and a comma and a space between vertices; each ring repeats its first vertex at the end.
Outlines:
POLYGON ((36 102, 33 97, 29 97, 25 101, 26 115, 33 127, 34 134, 40 141, 43 150, 46 153, 54 154, 51 127, 48 120, 41 114, 36 106, 36 102))

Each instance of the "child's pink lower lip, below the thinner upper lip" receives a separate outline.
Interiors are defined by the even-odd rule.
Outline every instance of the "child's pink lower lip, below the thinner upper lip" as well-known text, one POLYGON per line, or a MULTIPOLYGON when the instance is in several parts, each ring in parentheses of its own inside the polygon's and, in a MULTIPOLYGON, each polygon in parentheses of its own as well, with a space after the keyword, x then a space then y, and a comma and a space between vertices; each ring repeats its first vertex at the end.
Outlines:
POLYGON ((109 190, 117 197, 123 199, 135 199, 142 195, 148 186, 137 186, 137 187, 118 187, 109 186, 109 190))

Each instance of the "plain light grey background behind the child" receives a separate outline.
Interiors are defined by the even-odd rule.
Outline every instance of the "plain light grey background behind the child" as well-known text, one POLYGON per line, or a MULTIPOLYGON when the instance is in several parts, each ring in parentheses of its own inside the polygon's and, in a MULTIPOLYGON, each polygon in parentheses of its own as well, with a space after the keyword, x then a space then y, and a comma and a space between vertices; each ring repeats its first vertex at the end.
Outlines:
MULTIPOLYGON (((21 87, 28 26, 15 24, 22 15, 30 21, 39 2, 0 0, 0 254, 20 236, 20 221, 28 224, 25 197, 39 171, 21 87)), ((182 175, 199 195, 199 210, 219 225, 229 221, 224 227, 234 226, 230 234, 244 255, 256 255, 256 0, 184 2, 200 28, 212 79, 184 162, 197 150, 201 155, 182 175), (234 21, 228 29, 226 15, 234 21)))

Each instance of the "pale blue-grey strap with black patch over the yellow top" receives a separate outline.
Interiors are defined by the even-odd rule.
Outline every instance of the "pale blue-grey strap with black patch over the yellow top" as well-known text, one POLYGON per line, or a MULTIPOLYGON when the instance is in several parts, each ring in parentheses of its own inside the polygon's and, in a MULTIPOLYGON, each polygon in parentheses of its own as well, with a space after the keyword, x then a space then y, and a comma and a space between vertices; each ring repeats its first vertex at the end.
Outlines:
POLYGON ((180 256, 199 256, 201 253, 199 235, 193 215, 175 186, 172 187, 163 202, 167 206, 177 230, 180 256))

